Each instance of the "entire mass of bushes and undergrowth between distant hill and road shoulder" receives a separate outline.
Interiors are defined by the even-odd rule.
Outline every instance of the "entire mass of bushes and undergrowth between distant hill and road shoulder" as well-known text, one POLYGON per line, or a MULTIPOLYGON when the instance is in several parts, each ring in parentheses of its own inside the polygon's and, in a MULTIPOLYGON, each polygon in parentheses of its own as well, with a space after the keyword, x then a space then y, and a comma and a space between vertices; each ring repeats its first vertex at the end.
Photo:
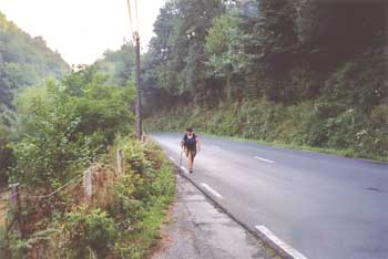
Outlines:
POLYGON ((133 84, 108 82, 91 66, 16 96, 8 173, 21 185, 21 201, 8 211, 0 255, 140 259, 155 246, 174 197, 173 166, 152 142, 134 141, 133 84), (81 180, 86 169, 90 199, 81 180))

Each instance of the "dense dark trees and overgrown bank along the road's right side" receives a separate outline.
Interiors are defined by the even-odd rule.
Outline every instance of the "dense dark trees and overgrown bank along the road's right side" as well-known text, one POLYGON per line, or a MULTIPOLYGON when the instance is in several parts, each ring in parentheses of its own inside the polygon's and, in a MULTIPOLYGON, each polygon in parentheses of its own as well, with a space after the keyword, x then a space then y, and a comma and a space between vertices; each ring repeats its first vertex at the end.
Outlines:
POLYGON ((149 130, 387 159, 387 4, 167 1, 144 64, 149 130))

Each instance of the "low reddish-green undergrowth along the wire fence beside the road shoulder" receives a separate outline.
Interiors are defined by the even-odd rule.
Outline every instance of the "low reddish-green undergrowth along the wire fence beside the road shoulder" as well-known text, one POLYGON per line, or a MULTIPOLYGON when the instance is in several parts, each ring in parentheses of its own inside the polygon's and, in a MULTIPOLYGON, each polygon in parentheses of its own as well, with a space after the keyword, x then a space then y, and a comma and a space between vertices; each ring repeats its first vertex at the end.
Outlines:
POLYGON ((60 193, 44 214, 41 205, 23 201, 24 237, 8 236, 11 258, 140 259, 152 250, 175 195, 173 166, 151 141, 120 138, 116 148, 124 156, 123 176, 112 168, 114 159, 99 165, 90 203, 80 198, 81 186, 60 193))

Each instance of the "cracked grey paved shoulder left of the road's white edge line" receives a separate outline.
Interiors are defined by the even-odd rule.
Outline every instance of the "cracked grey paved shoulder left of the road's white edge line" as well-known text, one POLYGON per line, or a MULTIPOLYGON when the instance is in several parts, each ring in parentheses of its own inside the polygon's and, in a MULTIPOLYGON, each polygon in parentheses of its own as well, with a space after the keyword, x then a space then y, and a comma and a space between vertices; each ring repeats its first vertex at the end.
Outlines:
POLYGON ((272 259, 263 244, 177 176, 177 198, 153 259, 272 259))

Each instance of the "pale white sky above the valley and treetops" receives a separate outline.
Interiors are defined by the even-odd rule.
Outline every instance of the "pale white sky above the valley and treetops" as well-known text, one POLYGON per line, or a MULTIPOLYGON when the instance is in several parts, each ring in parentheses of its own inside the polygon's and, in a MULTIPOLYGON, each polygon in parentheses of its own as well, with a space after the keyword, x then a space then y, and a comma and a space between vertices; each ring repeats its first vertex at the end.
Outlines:
MULTIPOLYGON (((130 1, 134 9, 135 0, 130 1)), ((137 1, 144 51, 165 0, 137 1)), ((0 11, 30 35, 43 37, 71 65, 91 64, 131 39, 126 0, 0 0, 0 11)), ((132 19, 135 22, 134 13, 132 19)))

